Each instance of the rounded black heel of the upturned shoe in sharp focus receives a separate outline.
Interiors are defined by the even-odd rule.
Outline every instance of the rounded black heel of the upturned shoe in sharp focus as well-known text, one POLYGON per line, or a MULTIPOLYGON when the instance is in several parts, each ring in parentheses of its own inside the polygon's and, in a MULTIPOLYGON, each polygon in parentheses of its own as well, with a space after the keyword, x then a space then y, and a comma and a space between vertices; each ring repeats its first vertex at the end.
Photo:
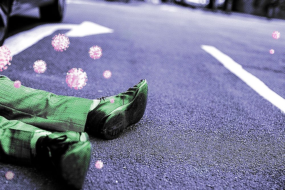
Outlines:
POLYGON ((126 128, 125 112, 117 110, 111 113, 101 128, 101 135, 106 139, 117 138, 126 128))

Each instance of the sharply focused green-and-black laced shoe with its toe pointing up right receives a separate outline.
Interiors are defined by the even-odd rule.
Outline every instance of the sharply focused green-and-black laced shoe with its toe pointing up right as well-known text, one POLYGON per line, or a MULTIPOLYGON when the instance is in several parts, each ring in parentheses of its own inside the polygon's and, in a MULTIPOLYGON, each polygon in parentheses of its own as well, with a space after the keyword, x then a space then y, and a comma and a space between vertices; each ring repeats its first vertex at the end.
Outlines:
POLYGON ((99 98, 97 107, 88 113, 86 129, 105 139, 118 137, 123 130, 139 122, 146 109, 148 84, 138 84, 118 95, 99 98))

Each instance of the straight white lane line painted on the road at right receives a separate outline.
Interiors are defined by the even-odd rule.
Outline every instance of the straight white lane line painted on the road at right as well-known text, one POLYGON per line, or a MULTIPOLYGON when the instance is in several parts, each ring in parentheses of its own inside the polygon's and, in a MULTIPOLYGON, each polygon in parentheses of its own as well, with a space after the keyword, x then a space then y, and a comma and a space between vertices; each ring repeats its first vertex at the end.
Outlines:
POLYGON ((236 63, 232 58, 222 53, 217 48, 207 45, 202 45, 201 48, 221 62, 225 68, 237 75, 258 94, 285 113, 285 99, 268 88, 268 86, 266 86, 260 79, 244 70, 240 64, 236 63))

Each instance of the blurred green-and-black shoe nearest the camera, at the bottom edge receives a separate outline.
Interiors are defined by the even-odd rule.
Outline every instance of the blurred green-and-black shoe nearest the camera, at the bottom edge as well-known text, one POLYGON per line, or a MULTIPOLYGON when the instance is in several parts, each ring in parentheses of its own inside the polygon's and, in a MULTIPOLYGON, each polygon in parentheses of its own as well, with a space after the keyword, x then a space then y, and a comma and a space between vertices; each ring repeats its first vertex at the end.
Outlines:
POLYGON ((55 169, 68 189, 81 189, 91 151, 87 133, 53 132, 37 140, 33 164, 37 168, 55 169))

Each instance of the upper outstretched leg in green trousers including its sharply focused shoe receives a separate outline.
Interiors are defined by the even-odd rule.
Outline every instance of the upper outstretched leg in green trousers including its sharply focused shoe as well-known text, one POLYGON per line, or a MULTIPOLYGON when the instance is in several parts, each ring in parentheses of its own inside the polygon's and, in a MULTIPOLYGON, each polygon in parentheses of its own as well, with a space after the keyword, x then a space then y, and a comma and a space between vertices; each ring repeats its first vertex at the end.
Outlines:
POLYGON ((0 115, 39 128, 90 132, 106 139, 141 120, 146 109, 148 84, 142 79, 123 93, 100 99, 59 96, 29 87, 14 87, 0 75, 0 115), (107 99, 107 100, 105 100, 107 99))

